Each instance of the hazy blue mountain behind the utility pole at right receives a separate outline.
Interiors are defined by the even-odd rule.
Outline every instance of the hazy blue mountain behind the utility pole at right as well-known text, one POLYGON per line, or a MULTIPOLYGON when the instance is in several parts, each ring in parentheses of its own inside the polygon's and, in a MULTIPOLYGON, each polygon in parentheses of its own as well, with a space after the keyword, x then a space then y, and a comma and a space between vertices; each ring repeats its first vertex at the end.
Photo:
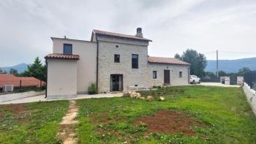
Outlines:
MULTIPOLYGON (((219 60, 219 70, 225 72, 238 72, 242 67, 256 70, 256 58, 242 58, 236 60, 219 60)), ((216 60, 208 60, 206 72, 216 72, 216 60)))

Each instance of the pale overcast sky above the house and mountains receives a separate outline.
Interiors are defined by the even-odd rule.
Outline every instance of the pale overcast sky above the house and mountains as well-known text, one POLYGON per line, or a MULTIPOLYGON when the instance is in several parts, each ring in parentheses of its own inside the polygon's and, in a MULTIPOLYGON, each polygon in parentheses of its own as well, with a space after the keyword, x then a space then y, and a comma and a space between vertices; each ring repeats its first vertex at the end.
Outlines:
POLYGON ((152 39, 150 56, 173 57, 187 48, 207 59, 256 57, 256 1, 1 0, 0 67, 31 64, 52 52, 50 37, 89 40, 92 29, 152 39))

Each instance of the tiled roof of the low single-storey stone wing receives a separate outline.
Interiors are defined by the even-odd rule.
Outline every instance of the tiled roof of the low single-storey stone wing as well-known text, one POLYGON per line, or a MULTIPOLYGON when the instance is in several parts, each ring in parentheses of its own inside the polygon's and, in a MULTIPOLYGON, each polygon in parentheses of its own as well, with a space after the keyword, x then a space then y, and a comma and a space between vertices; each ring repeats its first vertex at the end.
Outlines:
POLYGON ((182 64, 189 65, 189 63, 178 60, 176 58, 163 58, 163 57, 154 57, 148 56, 149 63, 157 63, 157 64, 182 64))

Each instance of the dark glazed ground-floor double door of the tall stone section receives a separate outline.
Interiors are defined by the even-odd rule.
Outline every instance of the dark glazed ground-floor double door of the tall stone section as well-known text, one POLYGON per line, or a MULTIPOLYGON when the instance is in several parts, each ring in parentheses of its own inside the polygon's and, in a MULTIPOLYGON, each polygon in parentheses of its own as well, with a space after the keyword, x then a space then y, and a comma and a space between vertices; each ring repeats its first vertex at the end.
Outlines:
POLYGON ((110 91, 122 91, 123 75, 110 75, 110 91))

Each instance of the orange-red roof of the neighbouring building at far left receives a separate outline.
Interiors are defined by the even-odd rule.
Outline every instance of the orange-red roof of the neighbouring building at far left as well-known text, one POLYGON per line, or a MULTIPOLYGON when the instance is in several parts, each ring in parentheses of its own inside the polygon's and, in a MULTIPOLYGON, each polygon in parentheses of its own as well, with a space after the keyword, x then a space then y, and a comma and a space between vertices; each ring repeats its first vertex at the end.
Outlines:
POLYGON ((0 74, 0 88, 4 85, 14 85, 15 87, 20 86, 43 86, 45 82, 38 80, 35 77, 16 77, 10 74, 0 74))

